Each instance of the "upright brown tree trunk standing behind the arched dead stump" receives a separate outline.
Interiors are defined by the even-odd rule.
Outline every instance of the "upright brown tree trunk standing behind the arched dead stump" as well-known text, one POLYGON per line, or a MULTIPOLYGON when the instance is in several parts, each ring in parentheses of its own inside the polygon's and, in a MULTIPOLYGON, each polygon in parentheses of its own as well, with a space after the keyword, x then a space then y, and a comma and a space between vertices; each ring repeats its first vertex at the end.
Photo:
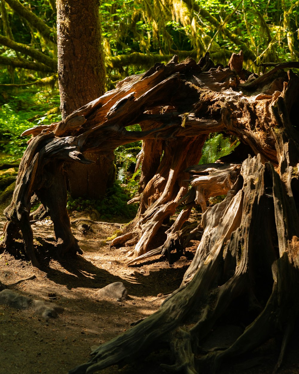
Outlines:
MULTIPOLYGON (((65 119, 105 92, 98 0, 58 0, 57 32, 60 108, 65 119)), ((115 179, 113 150, 105 156, 90 151, 85 157, 94 163, 67 165, 70 193, 73 198, 99 199, 115 179)))

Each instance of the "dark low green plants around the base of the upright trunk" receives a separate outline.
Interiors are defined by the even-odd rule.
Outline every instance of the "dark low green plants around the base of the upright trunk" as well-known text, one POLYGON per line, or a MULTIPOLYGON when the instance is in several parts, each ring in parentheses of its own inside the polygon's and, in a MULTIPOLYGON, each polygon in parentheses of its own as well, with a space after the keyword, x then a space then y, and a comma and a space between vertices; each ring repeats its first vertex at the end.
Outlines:
POLYGON ((78 212, 96 209, 101 214, 101 220, 111 220, 115 216, 133 218, 138 207, 135 204, 127 205, 129 199, 130 197, 120 184, 115 183, 107 189, 102 200, 84 200, 81 197, 73 200, 70 198, 67 202, 67 209, 78 212))

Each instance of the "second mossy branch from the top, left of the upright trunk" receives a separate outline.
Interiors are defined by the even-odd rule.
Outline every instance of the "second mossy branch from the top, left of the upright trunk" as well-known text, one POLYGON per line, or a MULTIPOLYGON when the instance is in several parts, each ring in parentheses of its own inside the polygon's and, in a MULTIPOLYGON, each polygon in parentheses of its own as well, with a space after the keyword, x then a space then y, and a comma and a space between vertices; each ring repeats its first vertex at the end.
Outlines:
POLYGON ((3 35, 0 35, 0 44, 10 49, 13 49, 17 52, 21 52, 24 55, 32 57, 36 59, 38 62, 41 62, 42 64, 51 67, 54 71, 57 70, 57 61, 55 59, 47 55, 44 55, 44 53, 38 51, 37 49, 31 48, 27 44, 17 43, 14 40, 9 39, 3 35))

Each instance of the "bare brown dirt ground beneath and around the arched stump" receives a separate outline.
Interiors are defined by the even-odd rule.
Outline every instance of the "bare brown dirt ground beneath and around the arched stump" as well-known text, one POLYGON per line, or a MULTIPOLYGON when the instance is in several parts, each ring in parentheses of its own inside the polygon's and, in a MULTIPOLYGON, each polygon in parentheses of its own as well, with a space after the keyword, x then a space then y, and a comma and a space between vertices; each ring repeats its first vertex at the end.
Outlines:
MULTIPOLYGON (((76 218, 78 216, 73 216, 71 220, 76 218)), ((80 218, 84 221, 91 217, 81 215, 80 218)), ((119 228, 110 223, 95 224, 89 221, 91 230, 83 235, 77 230, 81 220, 76 220, 72 228, 84 251, 83 255, 64 261, 52 258, 54 232, 50 220, 32 226, 37 248, 48 248, 41 270, 32 267, 25 259, 16 260, 8 254, 0 255, 1 282, 10 284, 35 275, 35 279, 10 289, 64 307, 64 312, 58 318, 46 321, 33 311, 0 305, 0 374, 67 374, 70 369, 88 361, 90 352, 96 346, 129 329, 131 324, 159 308, 165 300, 161 294, 169 294, 179 287, 197 247, 197 242, 192 242, 186 255, 172 265, 153 257, 127 267, 126 249, 113 248, 107 243, 107 238, 119 228), (124 283, 129 295, 127 300, 117 301, 96 295, 97 289, 112 282, 124 283)), ((4 222, 2 217, 1 228, 4 222)), ((231 335, 234 338, 231 332, 235 328, 228 325, 214 340, 207 341, 206 346, 221 346, 224 341, 228 343, 231 335)), ((280 373, 299 374, 298 352, 298 341, 295 341, 289 350, 288 364, 280 373)), ((159 364, 172 363, 168 354, 166 350, 157 349, 148 357, 139 357, 137 363, 133 361, 132 365, 120 370, 117 366, 110 367, 101 373, 164 374, 166 371, 159 364)), ((234 365, 229 363, 221 373, 272 373, 278 355, 279 347, 271 340, 255 355, 245 360, 241 358, 234 365)))

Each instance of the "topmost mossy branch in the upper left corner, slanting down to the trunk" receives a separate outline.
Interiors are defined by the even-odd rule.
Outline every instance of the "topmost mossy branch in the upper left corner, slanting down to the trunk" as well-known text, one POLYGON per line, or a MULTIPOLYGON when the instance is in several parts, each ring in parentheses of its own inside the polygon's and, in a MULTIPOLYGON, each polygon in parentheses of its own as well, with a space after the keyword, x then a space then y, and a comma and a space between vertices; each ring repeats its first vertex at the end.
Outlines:
POLYGON ((47 26, 37 15, 22 5, 18 0, 5 0, 6 3, 21 17, 24 17, 33 27, 35 27, 46 40, 57 43, 57 35, 54 30, 47 26))

